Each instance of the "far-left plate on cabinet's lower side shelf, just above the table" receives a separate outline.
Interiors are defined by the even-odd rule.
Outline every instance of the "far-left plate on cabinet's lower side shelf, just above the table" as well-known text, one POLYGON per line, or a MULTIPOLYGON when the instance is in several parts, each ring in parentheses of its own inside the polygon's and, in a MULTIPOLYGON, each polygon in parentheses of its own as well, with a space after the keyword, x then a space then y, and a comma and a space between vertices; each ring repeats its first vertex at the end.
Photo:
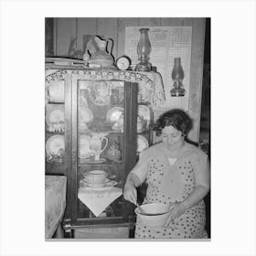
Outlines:
POLYGON ((53 135, 48 138, 46 144, 48 159, 63 157, 65 153, 65 137, 53 135))

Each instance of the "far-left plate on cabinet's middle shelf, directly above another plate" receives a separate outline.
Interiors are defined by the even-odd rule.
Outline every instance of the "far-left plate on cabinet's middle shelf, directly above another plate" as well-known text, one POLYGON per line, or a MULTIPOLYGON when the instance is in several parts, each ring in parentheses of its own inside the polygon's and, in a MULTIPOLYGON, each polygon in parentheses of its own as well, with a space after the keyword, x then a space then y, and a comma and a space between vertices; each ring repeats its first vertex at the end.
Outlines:
POLYGON ((65 127, 64 106, 48 104, 46 112, 48 131, 63 131, 65 127))

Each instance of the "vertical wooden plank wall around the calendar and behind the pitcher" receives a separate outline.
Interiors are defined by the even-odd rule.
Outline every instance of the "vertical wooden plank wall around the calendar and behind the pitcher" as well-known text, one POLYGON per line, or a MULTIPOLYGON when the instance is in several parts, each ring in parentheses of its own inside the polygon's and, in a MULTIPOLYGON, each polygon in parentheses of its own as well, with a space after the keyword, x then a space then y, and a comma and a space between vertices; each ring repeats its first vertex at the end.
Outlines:
POLYGON ((191 26, 192 52, 190 67, 189 113, 194 119, 194 128, 189 138, 198 142, 201 108, 201 91, 204 59, 205 18, 55 18, 54 19, 54 53, 57 57, 69 57, 69 45, 77 38, 74 47, 83 50, 83 35, 102 35, 114 41, 112 55, 115 59, 124 54, 125 27, 139 26, 191 26))

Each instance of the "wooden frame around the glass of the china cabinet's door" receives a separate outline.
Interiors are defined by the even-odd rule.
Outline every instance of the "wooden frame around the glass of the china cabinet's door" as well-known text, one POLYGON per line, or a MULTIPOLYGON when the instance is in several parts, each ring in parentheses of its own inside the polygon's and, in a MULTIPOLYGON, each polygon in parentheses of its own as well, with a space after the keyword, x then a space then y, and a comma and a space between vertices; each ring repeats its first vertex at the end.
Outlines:
MULTIPOLYGON (((115 227, 129 224, 127 204, 123 203, 123 217, 105 219, 79 219, 78 218, 78 80, 86 80, 83 75, 69 74, 65 82, 65 116, 66 116, 66 175, 68 176, 67 209, 65 225, 68 229, 81 227, 101 226, 115 227)), ((136 136, 137 136, 137 93, 138 84, 124 81, 124 176, 126 176, 136 163, 136 136)))

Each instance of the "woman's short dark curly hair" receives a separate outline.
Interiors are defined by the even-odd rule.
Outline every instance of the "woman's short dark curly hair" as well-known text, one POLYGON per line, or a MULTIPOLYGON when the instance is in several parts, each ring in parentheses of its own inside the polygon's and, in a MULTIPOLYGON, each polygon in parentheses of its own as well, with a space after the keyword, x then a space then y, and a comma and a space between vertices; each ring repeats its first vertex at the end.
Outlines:
POLYGON ((156 135, 160 135, 162 129, 169 125, 174 126, 176 130, 186 137, 187 133, 192 129, 192 120, 186 112, 179 109, 164 112, 155 123, 154 130, 156 135))

